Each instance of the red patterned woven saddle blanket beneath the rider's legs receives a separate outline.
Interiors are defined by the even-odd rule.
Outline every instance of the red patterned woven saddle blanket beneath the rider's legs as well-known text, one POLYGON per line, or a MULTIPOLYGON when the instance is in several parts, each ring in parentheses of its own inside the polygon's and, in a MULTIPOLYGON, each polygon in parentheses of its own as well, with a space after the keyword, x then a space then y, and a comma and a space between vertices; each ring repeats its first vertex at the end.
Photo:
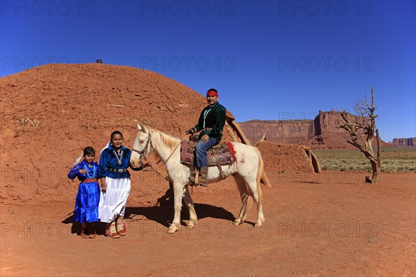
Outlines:
MULTIPOLYGON (((190 141, 187 140, 183 140, 182 143, 180 143, 180 162, 193 166, 195 164, 195 148, 191 147, 189 143, 190 141)), ((214 152, 213 148, 207 151, 208 166, 218 166, 215 155, 218 157, 221 166, 229 165, 236 161, 236 152, 231 143, 226 143, 226 145, 223 145, 223 147, 220 148, 214 148, 214 152)))

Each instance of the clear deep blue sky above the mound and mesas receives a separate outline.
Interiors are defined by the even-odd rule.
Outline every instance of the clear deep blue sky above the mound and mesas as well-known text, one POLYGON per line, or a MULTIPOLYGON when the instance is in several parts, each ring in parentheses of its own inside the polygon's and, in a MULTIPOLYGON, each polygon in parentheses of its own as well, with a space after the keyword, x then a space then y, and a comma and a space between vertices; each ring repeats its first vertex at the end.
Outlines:
POLYGON ((1 77, 55 62, 135 66, 238 122, 313 119, 374 87, 381 139, 416 136, 415 1, 0 1, 1 77))

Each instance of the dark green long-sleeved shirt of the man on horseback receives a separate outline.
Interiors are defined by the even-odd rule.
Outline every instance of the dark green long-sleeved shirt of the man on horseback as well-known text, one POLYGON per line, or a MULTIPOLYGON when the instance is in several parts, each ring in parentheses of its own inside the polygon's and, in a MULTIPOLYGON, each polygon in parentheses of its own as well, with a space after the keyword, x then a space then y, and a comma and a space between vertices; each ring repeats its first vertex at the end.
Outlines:
POLYGON ((223 128, 225 125, 225 113, 226 109, 219 102, 216 102, 212 106, 207 106, 202 109, 198 124, 195 125, 196 132, 201 131, 200 138, 207 134, 210 138, 215 138, 216 143, 219 143, 223 137, 223 128), (205 122, 205 125, 204 125, 205 122), (211 128, 210 130, 204 130, 205 128, 211 128))

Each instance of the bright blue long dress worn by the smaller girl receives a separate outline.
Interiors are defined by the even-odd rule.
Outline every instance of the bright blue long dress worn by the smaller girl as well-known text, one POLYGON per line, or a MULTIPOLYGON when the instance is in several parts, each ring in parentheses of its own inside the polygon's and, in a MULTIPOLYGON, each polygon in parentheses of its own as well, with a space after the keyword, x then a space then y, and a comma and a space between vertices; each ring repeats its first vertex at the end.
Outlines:
POLYGON ((98 221, 98 204, 100 202, 100 189, 98 187, 98 164, 94 161, 89 164, 85 160, 77 163, 68 173, 68 178, 75 177, 81 181, 76 195, 73 220, 75 222, 96 222, 98 221), (79 170, 87 170, 87 174, 79 170))

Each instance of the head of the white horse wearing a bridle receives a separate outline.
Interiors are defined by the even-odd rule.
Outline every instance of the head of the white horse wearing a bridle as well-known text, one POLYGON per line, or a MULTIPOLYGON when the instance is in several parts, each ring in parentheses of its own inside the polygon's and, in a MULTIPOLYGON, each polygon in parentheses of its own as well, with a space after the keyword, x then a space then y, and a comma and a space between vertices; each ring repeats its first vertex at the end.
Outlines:
POLYGON ((140 168, 144 163, 144 159, 152 152, 151 130, 141 124, 137 124, 137 129, 139 132, 137 132, 130 156, 130 166, 132 168, 140 168))

